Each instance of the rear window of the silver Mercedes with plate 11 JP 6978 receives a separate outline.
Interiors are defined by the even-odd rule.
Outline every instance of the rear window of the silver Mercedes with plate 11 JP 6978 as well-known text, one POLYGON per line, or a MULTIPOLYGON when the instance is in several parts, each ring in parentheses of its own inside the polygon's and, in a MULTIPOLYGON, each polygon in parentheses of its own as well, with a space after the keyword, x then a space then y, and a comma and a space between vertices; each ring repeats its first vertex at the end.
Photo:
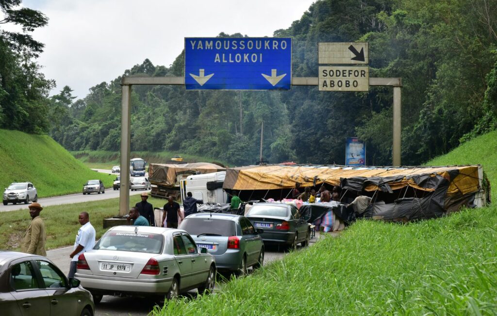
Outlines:
POLYGON ((103 235, 93 249, 137 253, 161 253, 163 245, 163 235, 118 231, 108 232, 103 235))

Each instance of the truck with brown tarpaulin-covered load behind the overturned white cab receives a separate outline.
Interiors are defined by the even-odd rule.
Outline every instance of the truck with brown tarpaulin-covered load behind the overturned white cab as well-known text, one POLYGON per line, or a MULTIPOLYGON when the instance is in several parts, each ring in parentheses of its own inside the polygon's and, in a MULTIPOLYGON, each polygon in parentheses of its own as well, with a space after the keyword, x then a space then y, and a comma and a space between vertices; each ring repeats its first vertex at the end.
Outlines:
POLYGON ((179 183, 190 175, 225 171, 226 168, 207 162, 189 164, 150 164, 149 181, 152 185, 151 195, 175 199, 180 196, 179 183))

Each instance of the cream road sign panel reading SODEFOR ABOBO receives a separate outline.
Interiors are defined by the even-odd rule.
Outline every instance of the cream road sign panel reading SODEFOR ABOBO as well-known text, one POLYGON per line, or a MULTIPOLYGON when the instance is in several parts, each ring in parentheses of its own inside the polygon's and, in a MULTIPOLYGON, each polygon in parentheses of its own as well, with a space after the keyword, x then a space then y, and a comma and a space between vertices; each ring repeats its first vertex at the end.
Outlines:
POLYGON ((369 91, 369 66, 320 66, 319 91, 369 91))

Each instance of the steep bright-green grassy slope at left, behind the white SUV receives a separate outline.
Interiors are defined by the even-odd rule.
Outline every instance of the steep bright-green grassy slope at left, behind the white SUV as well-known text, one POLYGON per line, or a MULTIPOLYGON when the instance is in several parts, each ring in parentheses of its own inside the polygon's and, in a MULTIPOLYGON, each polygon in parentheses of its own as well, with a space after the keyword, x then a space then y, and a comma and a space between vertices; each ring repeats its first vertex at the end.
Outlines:
POLYGON ((0 129, 0 161, 0 189, 12 182, 29 181, 40 198, 81 192, 91 179, 112 187, 115 178, 88 169, 48 135, 16 130, 0 129))

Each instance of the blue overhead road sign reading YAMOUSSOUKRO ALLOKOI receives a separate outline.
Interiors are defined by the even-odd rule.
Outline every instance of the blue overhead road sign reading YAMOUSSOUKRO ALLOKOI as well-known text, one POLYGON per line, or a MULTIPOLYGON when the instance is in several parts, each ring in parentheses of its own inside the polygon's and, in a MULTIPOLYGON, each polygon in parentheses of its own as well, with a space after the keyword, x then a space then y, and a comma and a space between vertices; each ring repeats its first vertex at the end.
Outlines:
POLYGON ((291 38, 185 38, 187 90, 290 90, 291 38))

